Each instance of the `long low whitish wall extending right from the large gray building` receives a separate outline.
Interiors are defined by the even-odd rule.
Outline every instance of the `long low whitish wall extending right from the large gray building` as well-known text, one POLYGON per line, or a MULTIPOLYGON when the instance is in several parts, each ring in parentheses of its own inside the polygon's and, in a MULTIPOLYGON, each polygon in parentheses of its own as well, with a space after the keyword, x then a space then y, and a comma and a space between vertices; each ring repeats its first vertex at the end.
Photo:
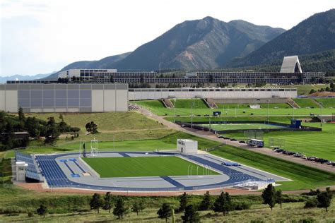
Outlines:
POLYGON ((168 97, 195 98, 209 97, 213 99, 267 99, 297 97, 297 90, 294 88, 149 88, 129 89, 129 100, 153 100, 168 97))

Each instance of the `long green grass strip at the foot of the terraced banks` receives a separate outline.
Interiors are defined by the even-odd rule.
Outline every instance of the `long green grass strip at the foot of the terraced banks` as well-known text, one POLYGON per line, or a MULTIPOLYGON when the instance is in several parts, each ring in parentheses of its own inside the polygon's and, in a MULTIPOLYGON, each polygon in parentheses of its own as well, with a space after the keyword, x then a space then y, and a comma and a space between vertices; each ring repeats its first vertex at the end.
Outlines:
MULTIPOLYGON (((200 100, 199 100, 200 101, 200 100)), ((253 116, 267 116, 268 109, 267 105, 264 108, 261 109, 250 109, 245 105, 245 107, 239 107, 239 105, 235 104, 235 108, 223 106, 219 107, 218 109, 209 109, 209 108, 202 108, 202 107, 193 107, 191 111, 191 107, 184 107, 184 108, 175 108, 175 109, 167 109, 163 106, 161 102, 158 100, 150 100, 150 101, 134 101, 131 102, 134 104, 139 104, 142 107, 145 107, 146 109, 150 110, 154 114, 158 114, 160 116, 190 116, 192 113, 194 115, 205 115, 205 114, 213 114, 213 111, 221 111, 222 116, 250 116, 253 114, 253 116), (237 108, 237 107, 238 108, 237 108)), ((315 102, 314 102, 315 103, 315 102)), ((316 103, 315 103, 316 104, 316 103)), ((300 108, 300 109, 292 109, 292 108, 270 108, 269 107, 269 116, 309 116, 311 113, 313 114, 332 114, 335 113, 335 109, 319 109, 317 105, 315 105, 314 109, 307 109, 307 108, 300 108)))

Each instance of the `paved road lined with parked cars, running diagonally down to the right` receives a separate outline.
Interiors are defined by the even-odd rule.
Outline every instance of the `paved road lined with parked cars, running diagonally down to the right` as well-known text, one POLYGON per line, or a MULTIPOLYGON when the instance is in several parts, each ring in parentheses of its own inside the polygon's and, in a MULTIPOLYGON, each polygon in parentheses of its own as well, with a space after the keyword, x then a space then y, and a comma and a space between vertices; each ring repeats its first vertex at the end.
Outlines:
POLYGON ((240 144, 240 143, 235 142, 235 141, 223 140, 222 138, 217 138, 216 135, 214 135, 211 132, 199 131, 197 129, 187 128, 187 127, 182 128, 181 126, 179 126, 175 123, 172 123, 170 121, 166 121, 165 119, 163 119, 162 116, 158 116, 156 114, 151 113, 151 111, 148 111, 147 109, 145 109, 143 107, 141 107, 140 111, 143 115, 148 116, 148 118, 153 119, 155 121, 159 121, 160 123, 163 123, 165 126, 173 128, 177 131, 182 131, 182 132, 185 132, 185 133, 196 135, 196 136, 201 137, 201 138, 214 140, 214 141, 217 141, 217 142, 220 142, 220 143, 225 143, 227 145, 233 145, 235 147, 240 147, 240 148, 245 149, 245 150, 252 150, 254 152, 259 152, 259 153, 264 154, 264 155, 269 155, 271 157, 285 159, 285 160, 288 160, 290 162, 295 162, 295 163, 298 163, 298 164, 303 164, 305 166, 314 167, 314 168, 317 168, 317 169, 322 169, 324 171, 330 171, 332 173, 335 173, 335 167, 331 167, 327 164, 319 164, 317 162, 311 162, 311 161, 301 159, 301 158, 298 158, 298 157, 283 155, 283 154, 280 154, 280 153, 277 153, 277 152, 273 152, 271 149, 265 148, 265 147, 263 147, 263 148, 249 147, 245 144, 240 144))

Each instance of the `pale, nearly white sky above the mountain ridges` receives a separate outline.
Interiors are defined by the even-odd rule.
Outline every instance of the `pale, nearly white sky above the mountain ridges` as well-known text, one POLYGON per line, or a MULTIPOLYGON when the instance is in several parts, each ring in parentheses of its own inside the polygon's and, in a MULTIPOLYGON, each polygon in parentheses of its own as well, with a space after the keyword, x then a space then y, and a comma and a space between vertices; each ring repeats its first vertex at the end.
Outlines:
POLYGON ((0 0, 0 76, 50 73, 134 51, 184 20, 242 19, 286 30, 334 0, 0 0))

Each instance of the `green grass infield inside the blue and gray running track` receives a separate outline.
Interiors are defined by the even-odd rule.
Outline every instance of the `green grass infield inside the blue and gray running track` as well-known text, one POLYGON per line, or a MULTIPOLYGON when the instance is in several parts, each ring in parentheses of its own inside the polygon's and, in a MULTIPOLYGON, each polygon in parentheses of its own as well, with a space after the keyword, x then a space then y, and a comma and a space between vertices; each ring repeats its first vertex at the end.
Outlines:
MULTIPOLYGON (((102 157, 83 158, 100 177, 202 175, 204 167, 179 157, 102 157), (199 167, 199 168, 198 168, 199 167), (196 172, 198 169, 198 173, 196 172)), ((212 171, 212 174, 218 174, 212 171)))

